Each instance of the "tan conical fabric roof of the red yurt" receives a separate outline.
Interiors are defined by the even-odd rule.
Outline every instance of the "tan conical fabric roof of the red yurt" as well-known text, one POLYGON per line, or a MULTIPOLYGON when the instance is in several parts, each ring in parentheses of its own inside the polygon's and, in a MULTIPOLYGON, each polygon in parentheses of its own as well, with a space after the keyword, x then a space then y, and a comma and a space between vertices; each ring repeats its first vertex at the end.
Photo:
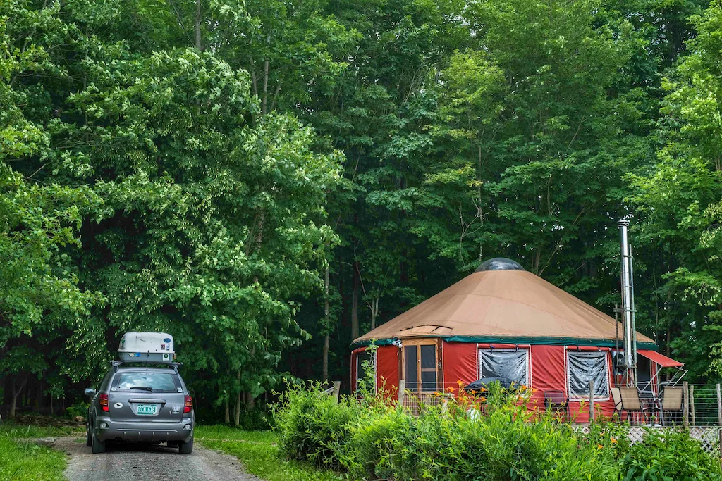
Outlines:
MULTIPOLYGON (((523 270, 476 272, 354 343, 398 337, 567 337, 614 340, 615 321, 523 270)), ((639 343, 653 343, 638 333, 639 343)), ((622 324, 619 323, 619 339, 622 324)))

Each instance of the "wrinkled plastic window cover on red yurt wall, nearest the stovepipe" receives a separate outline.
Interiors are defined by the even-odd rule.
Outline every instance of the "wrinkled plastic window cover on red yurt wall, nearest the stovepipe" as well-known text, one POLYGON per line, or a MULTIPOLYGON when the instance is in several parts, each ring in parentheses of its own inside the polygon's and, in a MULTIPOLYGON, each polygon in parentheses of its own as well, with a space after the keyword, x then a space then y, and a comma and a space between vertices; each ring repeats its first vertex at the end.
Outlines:
POLYGON ((567 386, 570 400, 589 399, 589 381, 594 381, 594 399, 609 400, 607 351, 567 350, 567 386))

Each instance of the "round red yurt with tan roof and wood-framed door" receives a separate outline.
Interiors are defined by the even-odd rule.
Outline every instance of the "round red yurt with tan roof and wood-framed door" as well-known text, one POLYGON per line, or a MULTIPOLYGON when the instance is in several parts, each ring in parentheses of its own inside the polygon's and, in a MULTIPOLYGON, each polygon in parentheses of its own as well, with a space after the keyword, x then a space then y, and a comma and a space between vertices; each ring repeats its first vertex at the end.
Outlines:
MULTIPOLYGON (((372 361, 377 388, 433 394, 489 377, 531 387, 535 405, 551 393, 564 397, 569 414, 588 420, 581 403, 593 397, 612 415, 612 387, 621 381, 616 363, 622 324, 562 289, 495 258, 453 286, 412 307, 352 343, 352 387, 372 361), (378 346, 370 359, 368 346, 378 346)), ((681 366, 656 352, 654 341, 637 333, 640 384, 661 367, 681 366)))

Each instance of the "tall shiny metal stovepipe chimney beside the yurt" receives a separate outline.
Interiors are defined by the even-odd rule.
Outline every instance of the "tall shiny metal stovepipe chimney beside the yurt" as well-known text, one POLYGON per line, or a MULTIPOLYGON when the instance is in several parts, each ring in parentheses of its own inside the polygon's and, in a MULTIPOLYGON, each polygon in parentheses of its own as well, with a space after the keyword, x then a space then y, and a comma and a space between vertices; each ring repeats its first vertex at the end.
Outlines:
POLYGON ((634 284, 632 283, 632 249, 629 242, 630 221, 619 221, 619 247, 622 253, 622 335, 628 384, 637 384, 637 332, 635 330, 634 284))

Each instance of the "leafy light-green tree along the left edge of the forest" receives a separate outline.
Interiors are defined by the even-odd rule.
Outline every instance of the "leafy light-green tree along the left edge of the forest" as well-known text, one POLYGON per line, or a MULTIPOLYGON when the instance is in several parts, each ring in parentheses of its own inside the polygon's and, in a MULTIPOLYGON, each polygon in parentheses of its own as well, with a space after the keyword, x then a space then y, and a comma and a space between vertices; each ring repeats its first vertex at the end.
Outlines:
MULTIPOLYGON (((35 99, 22 79, 63 75, 48 50, 69 28, 54 18, 57 5, 29 6, 14 1, 0 9, 0 381, 11 417, 31 376, 72 376, 69 366, 56 365, 61 356, 53 348, 85 330, 90 308, 102 301, 77 286, 69 255, 80 244, 82 214, 98 199, 87 187, 38 180, 53 158, 51 133, 23 111, 35 99), (33 34, 43 24, 56 31, 38 41, 33 34)), ((61 381, 51 376, 48 385, 57 392, 61 381)))

